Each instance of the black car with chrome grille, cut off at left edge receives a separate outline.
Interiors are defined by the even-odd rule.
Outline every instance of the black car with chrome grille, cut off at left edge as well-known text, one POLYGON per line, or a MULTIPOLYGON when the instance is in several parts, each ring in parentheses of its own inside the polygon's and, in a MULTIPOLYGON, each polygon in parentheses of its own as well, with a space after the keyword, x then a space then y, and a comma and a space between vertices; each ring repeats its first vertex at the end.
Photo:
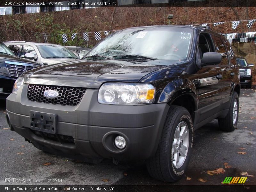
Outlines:
POLYGON ((8 97, 21 74, 40 66, 39 63, 14 56, 12 51, 0 42, 0 99, 8 97))

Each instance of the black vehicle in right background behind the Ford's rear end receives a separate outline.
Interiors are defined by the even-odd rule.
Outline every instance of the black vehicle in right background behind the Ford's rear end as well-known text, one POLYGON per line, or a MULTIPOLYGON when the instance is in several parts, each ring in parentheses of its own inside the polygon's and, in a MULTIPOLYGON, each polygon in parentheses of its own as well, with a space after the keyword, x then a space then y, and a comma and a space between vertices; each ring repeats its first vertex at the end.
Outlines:
POLYGON ((247 88, 252 88, 252 69, 253 64, 248 64, 247 61, 242 57, 236 58, 236 64, 239 66, 240 83, 245 85, 247 88))

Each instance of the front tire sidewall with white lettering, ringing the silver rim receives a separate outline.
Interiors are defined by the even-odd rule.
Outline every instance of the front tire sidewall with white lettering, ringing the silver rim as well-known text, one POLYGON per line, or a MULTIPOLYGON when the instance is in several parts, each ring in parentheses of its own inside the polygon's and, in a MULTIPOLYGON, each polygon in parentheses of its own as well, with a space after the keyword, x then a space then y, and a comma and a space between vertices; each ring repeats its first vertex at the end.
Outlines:
POLYGON ((186 169, 188 167, 189 159, 190 159, 191 152, 192 152, 192 146, 193 146, 193 136, 194 136, 193 122, 192 122, 191 116, 188 113, 188 111, 186 109, 184 109, 184 110, 180 111, 180 113, 178 114, 177 118, 175 119, 175 121, 173 123, 173 127, 171 127, 169 145, 167 148, 167 154, 168 154, 167 159, 168 159, 168 165, 169 165, 169 167, 168 167, 169 173, 174 180, 179 180, 184 175, 184 172, 186 171, 186 169), (183 165, 180 168, 177 169, 176 167, 174 167, 174 164, 172 162, 172 142, 174 139, 175 130, 176 130, 178 124, 182 121, 184 121, 188 125, 189 145, 188 145, 188 152, 187 152, 185 162, 183 163, 183 165))

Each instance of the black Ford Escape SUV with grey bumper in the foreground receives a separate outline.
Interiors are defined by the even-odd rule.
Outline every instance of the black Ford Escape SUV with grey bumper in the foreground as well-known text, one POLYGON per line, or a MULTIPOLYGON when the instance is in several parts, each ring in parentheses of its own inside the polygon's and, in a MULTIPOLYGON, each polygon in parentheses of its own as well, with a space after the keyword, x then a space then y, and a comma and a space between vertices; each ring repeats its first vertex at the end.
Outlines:
POLYGON ((234 131, 240 82, 228 41, 202 27, 148 26, 107 36, 83 60, 33 69, 7 98, 10 129, 41 150, 99 163, 145 159, 179 180, 193 132, 234 131))

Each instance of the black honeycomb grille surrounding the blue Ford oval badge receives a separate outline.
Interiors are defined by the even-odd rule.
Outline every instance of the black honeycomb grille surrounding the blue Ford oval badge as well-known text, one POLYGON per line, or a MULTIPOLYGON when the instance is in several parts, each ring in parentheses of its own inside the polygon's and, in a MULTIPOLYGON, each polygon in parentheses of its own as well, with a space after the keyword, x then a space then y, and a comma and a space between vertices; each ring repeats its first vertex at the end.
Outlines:
POLYGON ((76 106, 82 100, 85 91, 85 88, 78 87, 29 84, 27 90, 27 98, 30 101, 40 103, 76 106), (47 90, 57 91, 59 96, 56 98, 47 98, 44 96, 44 92, 47 90))

